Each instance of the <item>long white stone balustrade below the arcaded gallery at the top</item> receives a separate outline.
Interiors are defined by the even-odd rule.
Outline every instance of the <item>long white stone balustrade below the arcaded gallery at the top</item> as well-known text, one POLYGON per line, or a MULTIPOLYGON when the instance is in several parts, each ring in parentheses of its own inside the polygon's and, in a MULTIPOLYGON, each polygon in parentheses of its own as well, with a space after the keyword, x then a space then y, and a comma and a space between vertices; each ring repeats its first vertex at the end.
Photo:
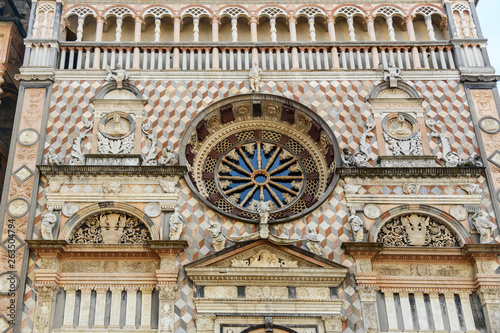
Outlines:
MULTIPOLYGON (((345 45, 345 44, 344 44, 345 45)), ((462 58, 468 67, 484 66, 478 45, 464 45, 462 58)), ((36 46, 30 65, 43 61, 44 49, 36 46), (41 60, 40 60, 41 59, 41 60)), ((393 46, 352 46, 295 44, 283 46, 209 46, 176 47, 173 44, 134 46, 90 46, 88 43, 65 43, 60 48, 59 69, 184 70, 184 71, 241 71, 252 64, 267 71, 281 70, 378 70, 391 64, 405 69, 448 70, 455 69, 452 46, 446 43, 415 46, 408 43, 393 46)))

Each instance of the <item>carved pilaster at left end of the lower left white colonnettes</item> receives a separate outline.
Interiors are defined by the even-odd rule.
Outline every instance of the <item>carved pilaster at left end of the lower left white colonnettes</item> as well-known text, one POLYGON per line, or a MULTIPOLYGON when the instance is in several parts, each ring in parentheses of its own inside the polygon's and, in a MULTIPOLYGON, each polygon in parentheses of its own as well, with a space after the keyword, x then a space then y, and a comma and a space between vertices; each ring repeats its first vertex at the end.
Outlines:
POLYGON ((36 333, 52 332, 52 313, 59 291, 57 285, 35 285, 36 312, 33 331, 36 333))

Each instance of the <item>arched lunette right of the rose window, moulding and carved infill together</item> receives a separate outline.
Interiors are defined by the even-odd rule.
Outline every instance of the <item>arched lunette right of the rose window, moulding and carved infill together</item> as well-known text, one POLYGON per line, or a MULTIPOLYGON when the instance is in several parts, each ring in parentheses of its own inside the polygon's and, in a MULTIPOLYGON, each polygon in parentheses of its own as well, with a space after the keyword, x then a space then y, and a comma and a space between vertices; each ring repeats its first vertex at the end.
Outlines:
POLYGON ((461 247, 472 243, 471 235, 459 221, 428 205, 402 205, 390 209, 375 221, 368 239, 402 247, 461 247), (450 237, 456 242, 452 244, 450 237))

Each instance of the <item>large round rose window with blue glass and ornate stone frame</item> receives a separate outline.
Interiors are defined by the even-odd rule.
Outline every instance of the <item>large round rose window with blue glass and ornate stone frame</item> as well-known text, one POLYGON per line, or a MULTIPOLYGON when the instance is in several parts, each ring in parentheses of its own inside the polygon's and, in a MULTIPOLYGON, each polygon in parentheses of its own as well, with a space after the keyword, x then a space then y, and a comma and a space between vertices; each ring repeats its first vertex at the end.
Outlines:
POLYGON ((323 120, 285 98, 252 94, 200 113, 181 143, 186 181, 202 201, 241 221, 269 223, 303 216, 320 205, 338 176, 339 149, 323 120))

